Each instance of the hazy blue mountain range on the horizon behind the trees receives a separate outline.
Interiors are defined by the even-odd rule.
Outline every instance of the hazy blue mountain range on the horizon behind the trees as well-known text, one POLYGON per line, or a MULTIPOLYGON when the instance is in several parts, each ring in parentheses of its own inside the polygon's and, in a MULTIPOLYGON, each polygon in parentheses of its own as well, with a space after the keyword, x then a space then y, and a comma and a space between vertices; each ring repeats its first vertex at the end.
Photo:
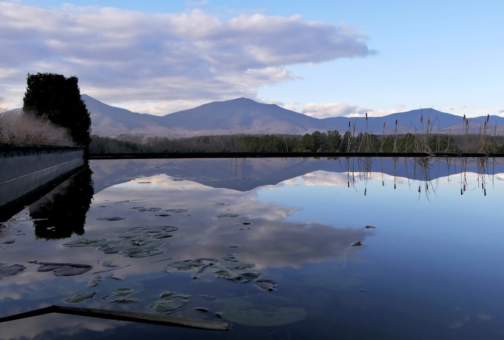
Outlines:
MULTIPOLYGON (((462 117, 434 109, 416 109, 384 117, 317 119, 287 110, 275 104, 259 103, 247 98, 214 101, 173 112, 165 116, 139 114, 107 105, 86 94, 82 99, 91 115, 92 133, 100 136, 137 134, 143 136, 192 137, 234 134, 294 134, 337 130, 355 133, 405 134, 424 132, 430 119, 432 133, 465 133, 462 117), (420 120, 422 117, 422 120, 420 120), (350 127, 349 127, 350 123, 350 127), (384 126, 385 123, 385 126, 384 126)), ((478 134, 486 116, 469 119, 469 133, 478 134)), ((504 118, 490 116, 488 131, 497 126, 496 134, 504 135, 504 118)), ((492 133, 493 134, 493 133, 492 133)))

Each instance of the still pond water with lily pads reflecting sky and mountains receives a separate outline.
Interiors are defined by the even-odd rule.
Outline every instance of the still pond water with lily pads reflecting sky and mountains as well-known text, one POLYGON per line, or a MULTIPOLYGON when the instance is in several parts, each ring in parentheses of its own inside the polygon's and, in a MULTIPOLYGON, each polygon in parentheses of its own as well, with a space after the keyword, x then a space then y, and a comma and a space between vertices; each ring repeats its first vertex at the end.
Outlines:
POLYGON ((500 164, 91 161, 92 178, 0 229, 0 316, 172 309, 233 327, 48 314, 2 323, 0 338, 502 338, 500 164))

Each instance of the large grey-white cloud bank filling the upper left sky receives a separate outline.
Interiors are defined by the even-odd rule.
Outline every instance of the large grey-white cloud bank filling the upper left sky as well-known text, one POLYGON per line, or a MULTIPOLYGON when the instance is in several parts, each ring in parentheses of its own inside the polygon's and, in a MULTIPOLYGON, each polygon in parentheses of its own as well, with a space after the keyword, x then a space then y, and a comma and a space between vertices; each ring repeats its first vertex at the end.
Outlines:
POLYGON ((290 65, 373 53, 344 26, 262 14, 222 20, 199 9, 156 14, 3 2, 0 32, 7 100, 21 103, 27 73, 54 72, 77 76, 82 93, 105 102, 159 102, 163 114, 175 111, 173 101, 255 98, 260 86, 297 79, 290 65))

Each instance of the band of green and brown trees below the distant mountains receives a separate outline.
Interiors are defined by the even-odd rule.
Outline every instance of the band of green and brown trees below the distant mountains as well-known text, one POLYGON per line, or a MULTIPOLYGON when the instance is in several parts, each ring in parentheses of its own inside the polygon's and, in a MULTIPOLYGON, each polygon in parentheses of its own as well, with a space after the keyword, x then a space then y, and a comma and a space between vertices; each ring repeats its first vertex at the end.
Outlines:
POLYGON ((186 138, 115 138, 92 135, 90 153, 142 152, 482 152, 504 153, 504 136, 341 134, 337 130, 300 135, 217 135, 186 138))

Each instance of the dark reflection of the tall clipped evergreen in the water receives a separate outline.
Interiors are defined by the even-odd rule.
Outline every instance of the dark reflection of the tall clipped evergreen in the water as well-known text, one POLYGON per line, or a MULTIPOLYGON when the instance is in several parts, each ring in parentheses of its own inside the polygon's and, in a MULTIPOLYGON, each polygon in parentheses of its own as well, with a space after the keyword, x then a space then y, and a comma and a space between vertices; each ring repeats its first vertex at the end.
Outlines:
POLYGON ((92 171, 86 166, 67 181, 30 205, 35 236, 46 240, 83 235, 86 213, 93 197, 92 171))

